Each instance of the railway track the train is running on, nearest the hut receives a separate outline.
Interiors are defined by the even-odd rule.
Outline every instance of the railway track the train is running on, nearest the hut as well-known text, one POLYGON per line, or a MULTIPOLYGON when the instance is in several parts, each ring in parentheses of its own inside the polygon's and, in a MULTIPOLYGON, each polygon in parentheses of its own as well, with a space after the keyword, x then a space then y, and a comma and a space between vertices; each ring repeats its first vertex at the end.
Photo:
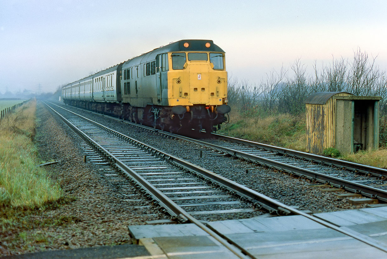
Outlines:
MULTIPOLYGON (((198 140, 122 121, 115 117, 103 116, 211 148, 219 152, 218 155, 231 155, 289 175, 305 177, 312 182, 327 184, 368 198, 378 199, 381 202, 387 201, 387 170, 385 169, 214 133, 211 134, 211 139, 198 140)), ((202 136, 205 137, 204 134, 202 136)))

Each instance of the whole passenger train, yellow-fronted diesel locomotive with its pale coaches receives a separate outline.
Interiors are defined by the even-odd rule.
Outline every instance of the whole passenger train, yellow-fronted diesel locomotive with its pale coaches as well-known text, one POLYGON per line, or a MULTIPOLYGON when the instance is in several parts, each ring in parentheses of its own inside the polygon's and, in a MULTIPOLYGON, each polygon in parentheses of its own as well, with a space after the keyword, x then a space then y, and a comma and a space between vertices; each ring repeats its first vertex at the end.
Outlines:
POLYGON ((228 123, 225 52, 180 40, 62 87, 65 104, 179 133, 228 123))

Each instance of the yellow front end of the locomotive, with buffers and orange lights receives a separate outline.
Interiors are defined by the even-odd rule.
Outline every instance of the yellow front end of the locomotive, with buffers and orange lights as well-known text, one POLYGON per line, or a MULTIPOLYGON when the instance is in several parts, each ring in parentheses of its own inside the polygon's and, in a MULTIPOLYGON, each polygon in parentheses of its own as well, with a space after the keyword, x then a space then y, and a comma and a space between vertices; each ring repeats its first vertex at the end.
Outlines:
POLYGON ((163 121, 174 125, 173 131, 193 128, 211 132, 227 121, 225 114, 230 107, 227 105, 225 56, 223 50, 212 44, 212 41, 187 41, 181 43, 184 48, 180 51, 167 53, 166 105, 171 110, 163 121), (196 46, 190 48, 191 44, 196 46))

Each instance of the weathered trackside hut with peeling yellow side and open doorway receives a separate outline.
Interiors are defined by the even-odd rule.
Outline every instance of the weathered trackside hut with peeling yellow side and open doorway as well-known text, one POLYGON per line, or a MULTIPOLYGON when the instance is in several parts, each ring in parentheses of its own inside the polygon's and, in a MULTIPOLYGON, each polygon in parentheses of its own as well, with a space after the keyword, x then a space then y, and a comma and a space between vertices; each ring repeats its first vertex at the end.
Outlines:
POLYGON ((376 149, 379 142, 378 96, 317 92, 305 99, 307 152, 336 148, 341 154, 376 149))

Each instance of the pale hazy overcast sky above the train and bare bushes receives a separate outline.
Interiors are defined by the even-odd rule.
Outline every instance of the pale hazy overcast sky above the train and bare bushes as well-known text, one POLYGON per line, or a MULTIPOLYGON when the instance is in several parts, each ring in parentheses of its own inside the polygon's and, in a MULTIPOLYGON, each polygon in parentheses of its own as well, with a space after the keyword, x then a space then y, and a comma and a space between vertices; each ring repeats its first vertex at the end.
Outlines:
POLYGON ((0 92, 53 92, 180 39, 212 39, 228 73, 250 83, 358 48, 386 70, 386 14, 384 0, 0 0, 0 92))

